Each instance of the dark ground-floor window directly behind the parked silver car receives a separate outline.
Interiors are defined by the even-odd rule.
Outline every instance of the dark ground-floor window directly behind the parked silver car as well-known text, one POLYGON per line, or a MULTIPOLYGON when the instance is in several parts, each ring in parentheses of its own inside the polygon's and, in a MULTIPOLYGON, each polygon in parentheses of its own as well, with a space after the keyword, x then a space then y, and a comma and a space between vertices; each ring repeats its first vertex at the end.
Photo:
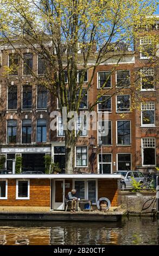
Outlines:
POLYGON ((118 154, 118 170, 131 170, 131 154, 118 154))

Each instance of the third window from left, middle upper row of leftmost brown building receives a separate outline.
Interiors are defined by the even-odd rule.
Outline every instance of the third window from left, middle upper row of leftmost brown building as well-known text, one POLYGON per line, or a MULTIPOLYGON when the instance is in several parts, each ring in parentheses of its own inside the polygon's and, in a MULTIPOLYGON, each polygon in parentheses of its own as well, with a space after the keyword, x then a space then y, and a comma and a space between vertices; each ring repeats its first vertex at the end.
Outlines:
POLYGON ((47 88, 37 86, 37 108, 47 108, 47 88))

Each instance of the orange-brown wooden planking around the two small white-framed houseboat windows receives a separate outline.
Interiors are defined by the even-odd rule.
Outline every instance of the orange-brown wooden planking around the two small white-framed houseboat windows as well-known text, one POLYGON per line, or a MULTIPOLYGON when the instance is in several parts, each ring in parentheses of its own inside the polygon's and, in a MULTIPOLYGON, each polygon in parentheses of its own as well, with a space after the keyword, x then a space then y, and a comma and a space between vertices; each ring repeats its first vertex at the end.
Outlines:
POLYGON ((50 206, 50 180, 30 179, 30 199, 16 200, 16 180, 8 179, 8 199, 1 200, 0 206, 50 206))

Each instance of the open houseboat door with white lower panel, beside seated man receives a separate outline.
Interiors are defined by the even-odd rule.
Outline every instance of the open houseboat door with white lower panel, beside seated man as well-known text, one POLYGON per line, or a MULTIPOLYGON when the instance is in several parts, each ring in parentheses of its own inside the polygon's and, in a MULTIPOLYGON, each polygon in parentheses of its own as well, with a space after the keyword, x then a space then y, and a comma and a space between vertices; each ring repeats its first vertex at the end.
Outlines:
POLYGON ((65 210, 65 179, 54 180, 53 209, 65 210))

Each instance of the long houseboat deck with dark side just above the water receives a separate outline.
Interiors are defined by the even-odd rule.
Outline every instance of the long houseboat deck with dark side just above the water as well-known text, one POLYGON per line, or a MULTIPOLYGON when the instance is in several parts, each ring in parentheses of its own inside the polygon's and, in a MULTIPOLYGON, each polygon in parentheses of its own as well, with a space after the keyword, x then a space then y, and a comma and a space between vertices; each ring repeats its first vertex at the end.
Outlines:
POLYGON ((50 212, 0 212, 0 220, 30 220, 30 221, 87 221, 87 222, 117 222, 121 220, 126 210, 121 211, 50 211, 50 212))

